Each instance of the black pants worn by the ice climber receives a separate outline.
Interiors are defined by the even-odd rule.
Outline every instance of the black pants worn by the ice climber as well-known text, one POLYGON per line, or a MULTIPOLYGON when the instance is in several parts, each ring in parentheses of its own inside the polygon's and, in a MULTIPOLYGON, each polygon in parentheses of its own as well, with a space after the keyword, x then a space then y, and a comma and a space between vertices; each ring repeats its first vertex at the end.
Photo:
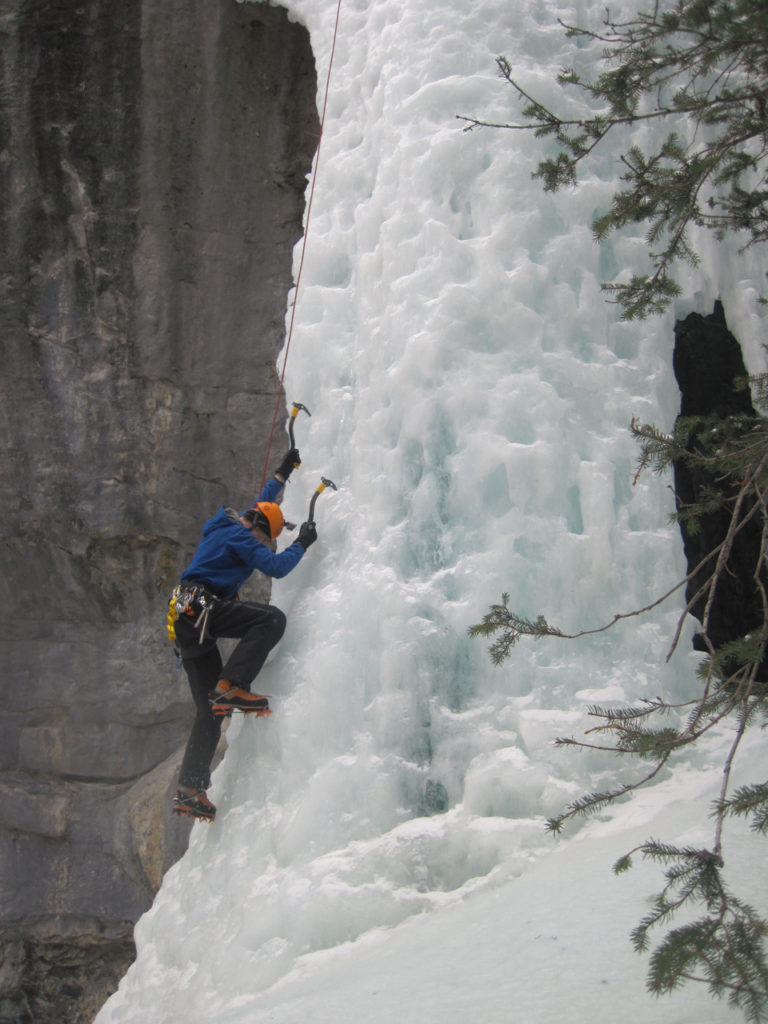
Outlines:
POLYGON ((186 672, 197 715, 179 772, 179 785, 207 790, 211 784, 211 762, 221 734, 221 720, 211 711, 208 697, 219 679, 228 679, 242 689, 261 671, 269 651, 286 630, 286 616, 270 604, 247 601, 216 601, 208 616, 203 643, 193 620, 176 621, 176 640, 186 672), (216 643, 219 637, 237 637, 240 643, 226 665, 216 643))

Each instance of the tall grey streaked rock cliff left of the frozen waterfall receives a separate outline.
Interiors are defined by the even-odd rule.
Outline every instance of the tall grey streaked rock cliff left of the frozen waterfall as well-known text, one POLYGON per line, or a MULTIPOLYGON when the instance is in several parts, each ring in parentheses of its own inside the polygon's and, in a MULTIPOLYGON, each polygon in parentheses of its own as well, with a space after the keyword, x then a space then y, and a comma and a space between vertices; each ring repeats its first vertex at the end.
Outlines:
POLYGON ((61 1024, 186 843, 166 606, 261 481, 318 126, 281 8, 8 0, 0 33, 0 1020, 61 1024))

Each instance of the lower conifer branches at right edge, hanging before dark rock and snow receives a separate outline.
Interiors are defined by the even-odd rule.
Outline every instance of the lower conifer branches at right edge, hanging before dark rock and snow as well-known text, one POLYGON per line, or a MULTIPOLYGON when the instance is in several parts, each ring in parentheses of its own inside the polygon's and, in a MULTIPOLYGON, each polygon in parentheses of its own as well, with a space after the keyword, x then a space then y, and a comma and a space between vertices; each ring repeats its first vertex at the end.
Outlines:
MULTIPOLYGON (((651 910, 632 934, 635 948, 646 951, 650 933, 667 929, 649 961, 648 988, 655 994, 673 991, 687 981, 705 982, 713 994, 725 996, 752 1022, 768 1021, 768 922, 748 899, 734 893, 723 878, 724 834, 728 818, 745 817, 758 836, 768 836, 768 781, 733 788, 733 767, 746 731, 765 727, 768 719, 768 588, 766 544, 768 538, 768 418, 766 379, 754 382, 756 404, 761 415, 742 420, 733 417, 717 425, 699 418, 678 420, 675 432, 665 434, 651 425, 632 424, 640 443, 638 473, 645 469, 664 472, 673 464, 703 467, 723 486, 705 494, 701 501, 679 507, 673 518, 690 527, 714 508, 724 509, 728 527, 722 543, 695 565, 688 575, 645 608, 620 612, 592 629, 565 634, 543 615, 530 617, 509 607, 509 596, 494 604, 469 634, 493 640, 490 657, 503 665, 513 648, 526 637, 575 640, 611 629, 624 618, 642 615, 695 581, 694 592, 680 615, 668 659, 676 649, 685 616, 702 608, 701 636, 708 654, 699 666, 695 695, 685 703, 672 705, 663 697, 642 699, 630 707, 592 707, 589 715, 596 726, 590 738, 563 737, 562 746, 609 751, 637 758, 645 769, 639 780, 615 788, 586 794, 561 814, 551 818, 548 828, 558 834, 566 822, 605 808, 653 780, 676 755, 698 742, 726 719, 735 728, 723 765, 723 782, 712 812, 712 843, 708 847, 676 847, 650 839, 629 851, 614 865, 616 872, 641 855, 665 867, 665 884, 651 910), (707 429, 700 429, 706 427, 707 429), (690 444, 695 432, 696 443, 690 444), (728 557, 740 531, 757 519, 763 543, 755 552, 754 581, 762 606, 762 624, 740 638, 716 647, 708 635, 709 610, 717 588, 729 572, 728 557), (696 916, 675 924, 680 910, 695 910, 696 916)), ((698 614, 698 612, 697 612, 698 614)))

